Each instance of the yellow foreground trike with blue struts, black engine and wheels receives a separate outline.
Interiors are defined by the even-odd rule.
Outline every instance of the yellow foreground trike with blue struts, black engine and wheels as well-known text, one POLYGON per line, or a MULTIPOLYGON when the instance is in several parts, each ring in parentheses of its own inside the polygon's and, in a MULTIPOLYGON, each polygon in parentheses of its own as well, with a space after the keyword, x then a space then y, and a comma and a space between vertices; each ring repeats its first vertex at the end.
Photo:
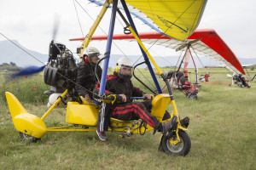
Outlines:
MULTIPOLYGON (((172 94, 172 89, 170 87, 170 83, 168 82, 165 74, 160 70, 160 67, 155 63, 153 57, 148 53, 147 48, 144 47, 143 43, 141 42, 140 38, 137 36, 137 30, 135 28, 135 25, 131 19, 131 14, 129 12, 129 9, 126 6, 125 0, 120 0, 120 3, 122 3, 123 9, 125 10, 125 14, 129 20, 129 22, 125 19, 124 15, 119 11, 119 8, 117 6, 118 0, 112 1, 106 1, 103 5, 101 13, 98 15, 96 22, 91 27, 90 32, 88 35, 84 38, 84 42, 81 45, 81 48, 78 49, 78 52, 80 54, 80 57, 83 58, 83 52, 84 48, 88 47, 88 44, 90 42, 90 37, 92 37, 94 31, 96 30, 96 27, 102 20, 102 16, 105 14, 108 7, 110 7, 109 3, 113 3, 111 6, 112 8, 112 15, 110 20, 110 26, 109 26, 109 32, 108 32, 108 42, 107 42, 107 48, 106 53, 104 54, 104 57, 100 59, 99 62, 104 60, 103 68, 102 68, 102 78, 101 78, 101 85, 100 85, 100 103, 87 103, 83 97, 74 97, 73 96, 73 83, 75 83, 75 75, 76 75, 76 65, 75 61, 73 59, 73 54, 66 48, 65 45, 61 43, 55 43, 52 41, 49 46, 49 60, 48 64, 46 65, 44 69, 44 82, 49 84, 51 87, 55 87, 54 93, 60 93, 57 92, 58 90, 61 91, 61 95, 55 100, 55 103, 52 103, 49 110, 44 113, 44 116, 38 117, 35 115, 32 115, 28 113, 25 108, 20 104, 19 100, 15 98, 15 96, 9 92, 6 92, 6 98, 9 105, 9 111, 11 113, 15 128, 17 131, 20 132, 20 137, 22 139, 31 139, 33 142, 36 142, 38 139, 42 139, 46 132, 67 132, 67 131, 81 131, 81 132, 88 132, 88 131, 96 131, 96 122, 97 122, 97 116, 98 112, 100 110, 100 105, 102 103, 111 103, 114 102, 115 98, 114 96, 106 96, 104 94, 105 90, 105 83, 108 73, 108 61, 110 58, 110 51, 111 51, 111 44, 113 39, 113 27, 114 27, 114 21, 116 13, 120 15, 122 20, 125 22, 125 31, 129 29, 130 33, 137 39, 137 42, 141 48, 141 51, 143 53, 144 62, 142 64, 146 64, 148 66, 148 71, 151 74, 151 77, 153 78, 155 87, 157 88, 157 93, 155 93, 154 90, 154 98, 152 99, 152 109, 151 114, 153 116, 156 116, 157 119, 160 122, 167 122, 172 119, 173 116, 177 116, 177 122, 175 123, 175 127, 172 129, 172 132, 168 133, 168 135, 161 135, 160 137, 160 150, 164 150, 167 154, 177 155, 177 156, 186 156, 189 153, 191 142, 189 139, 189 135, 186 133, 186 127, 182 127, 177 107, 174 101, 174 97, 172 94), (160 84, 157 81, 157 78, 154 75, 154 71, 152 68, 151 63, 154 65, 156 70, 159 72, 160 76, 163 78, 163 81, 166 83, 166 87, 168 89, 169 94, 163 94, 162 90, 160 88, 160 84), (71 98, 68 101, 67 98, 71 98), (64 127, 46 127, 44 124, 44 118, 49 115, 49 113, 55 108, 56 105, 62 103, 65 103, 65 100, 67 101, 67 115, 66 115, 66 122, 70 124, 70 126, 64 126, 64 127), (172 104, 172 111, 171 112, 171 118, 163 121, 163 116, 166 112, 167 106, 169 104, 172 104), (76 128, 69 128, 69 127, 76 127, 76 128), (79 128, 81 127, 81 128, 79 128)), ((132 1, 133 3, 140 3, 136 1, 132 1)), ((183 1, 182 1, 183 2, 183 1)), ((145 2, 142 2, 145 3, 145 2)), ((149 3, 149 2, 147 2, 149 3)), ((154 2, 153 2, 154 3, 154 2)), ((178 4, 178 7, 182 7, 184 11, 187 11, 187 3, 183 2, 182 4, 178 4)), ((173 3, 174 5, 174 3, 173 3)), ((195 5, 191 6, 193 9, 197 10, 199 14, 202 13, 204 7, 206 5, 206 1, 201 1, 201 5, 195 5)), ((165 5, 159 6, 158 8, 172 8, 172 2, 170 4, 165 3, 165 5)), ((164 11, 164 9, 162 10, 164 11)), ((159 12, 159 10, 156 10, 156 14, 159 12)), ((165 20, 171 20, 171 18, 168 18, 168 15, 165 13, 159 13, 159 18, 156 20, 165 21, 165 20), (160 17, 160 14, 163 14, 163 17, 160 17), (165 18, 166 17, 166 18, 165 18)), ((184 16, 187 18, 187 15, 184 16)), ((181 17, 178 17, 177 20, 179 20, 181 17)), ((181 24, 186 24, 187 31, 180 30, 180 26, 173 26, 170 25, 167 21, 165 21, 164 28, 170 28, 169 31, 165 31, 165 33, 169 34, 172 32, 177 33, 177 39, 180 39, 183 41, 193 31, 195 31, 195 27, 197 26, 196 23, 199 22, 201 19, 200 15, 193 15, 191 16, 193 20, 189 20, 186 23, 183 23, 183 20, 181 20, 181 24), (166 27, 165 27, 166 26, 166 27), (175 31, 176 30, 176 31, 175 31)), ((176 20, 176 19, 175 19, 176 20)), ((175 21, 174 20, 174 21, 175 21)), ((158 23, 160 24, 160 23, 158 23)), ((162 26, 162 25, 161 25, 162 26)), ((147 88, 147 87, 146 87, 147 88)), ((143 122, 142 120, 135 120, 135 121, 129 121, 124 122, 117 119, 111 118, 110 120, 111 124, 111 130, 119 131, 121 132, 121 137, 129 137, 132 133, 146 133, 148 131, 153 130, 153 127, 148 126, 146 122, 143 122)))

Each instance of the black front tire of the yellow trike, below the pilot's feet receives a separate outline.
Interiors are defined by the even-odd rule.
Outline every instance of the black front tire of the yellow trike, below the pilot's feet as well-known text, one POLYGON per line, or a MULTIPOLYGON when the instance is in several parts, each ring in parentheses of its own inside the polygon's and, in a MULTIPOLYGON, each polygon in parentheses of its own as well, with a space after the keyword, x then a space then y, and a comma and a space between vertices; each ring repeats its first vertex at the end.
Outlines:
MULTIPOLYGON (((189 135, 182 130, 178 132, 178 135, 181 141, 176 145, 172 145, 170 143, 170 139, 167 139, 165 136, 162 137, 161 146, 162 150, 164 150, 166 154, 172 156, 186 156, 189 153, 191 148, 191 140, 189 135)), ((172 136, 172 139, 176 139, 175 134, 172 136)))

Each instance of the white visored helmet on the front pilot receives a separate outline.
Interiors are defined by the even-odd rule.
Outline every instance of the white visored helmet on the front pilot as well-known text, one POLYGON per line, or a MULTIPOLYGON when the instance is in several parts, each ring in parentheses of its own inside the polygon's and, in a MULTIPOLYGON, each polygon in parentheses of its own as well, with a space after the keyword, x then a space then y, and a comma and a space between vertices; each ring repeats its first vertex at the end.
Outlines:
MULTIPOLYGON (((133 72, 133 62, 128 57, 122 57, 117 62, 117 68, 115 70, 118 73, 118 76, 123 79, 130 79, 132 77, 133 72), (131 71, 129 71, 129 74, 121 74, 121 69, 123 67, 128 67, 125 69, 131 68, 131 71)), ((123 73, 123 72, 122 72, 123 73)))

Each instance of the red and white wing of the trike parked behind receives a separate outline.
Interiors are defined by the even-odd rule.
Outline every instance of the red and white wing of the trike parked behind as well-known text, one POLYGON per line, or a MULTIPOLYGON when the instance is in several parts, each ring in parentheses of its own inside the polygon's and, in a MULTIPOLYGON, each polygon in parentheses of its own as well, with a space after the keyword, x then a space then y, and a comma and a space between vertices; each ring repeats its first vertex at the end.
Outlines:
MULTIPOLYGON (((236 74, 245 74, 240 61, 236 58, 236 55, 213 29, 195 30, 195 32, 185 42, 163 36, 158 32, 143 32, 139 33, 139 36, 143 42, 148 44, 174 48, 177 51, 186 48, 187 45, 190 44, 191 48, 193 48, 196 53, 218 60, 219 63, 230 69, 230 71, 236 72, 236 74)), ((107 40, 107 38, 107 36, 95 36, 92 37, 92 40, 107 40)), ((83 38, 77 38, 72 40, 82 39, 83 38)), ((136 41, 131 34, 116 34, 113 35, 113 39, 136 41)))

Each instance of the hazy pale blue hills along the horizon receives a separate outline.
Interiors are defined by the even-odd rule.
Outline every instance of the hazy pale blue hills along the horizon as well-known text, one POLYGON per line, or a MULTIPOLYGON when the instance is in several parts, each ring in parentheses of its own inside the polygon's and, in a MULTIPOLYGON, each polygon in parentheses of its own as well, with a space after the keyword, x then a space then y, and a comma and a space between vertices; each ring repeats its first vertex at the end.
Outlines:
MULTIPOLYGON (((29 54, 32 54, 34 57, 39 59, 42 62, 46 62, 48 59, 48 54, 40 54, 36 51, 32 51, 30 49, 27 49, 23 47, 18 41, 13 40, 20 48, 23 48, 26 50, 29 54)), ((42 66, 38 60, 33 59, 32 56, 29 54, 26 54, 23 50, 16 47, 12 42, 9 41, 0 41, 0 64, 2 63, 9 63, 14 62, 17 66, 25 67, 28 65, 38 65, 42 66)), ((119 58, 123 57, 121 54, 111 54, 111 59, 109 60, 109 67, 114 68, 116 65, 116 62, 119 58)), ((142 55, 131 55, 129 56, 136 64, 143 62, 142 55)), ((166 67, 166 66, 175 66, 177 65, 178 56, 164 56, 164 57, 154 57, 154 60, 160 67, 166 67)), ((202 68, 203 66, 213 66, 213 65, 220 65, 218 61, 215 59, 210 59, 208 57, 200 57, 201 62, 195 57, 195 63, 198 68, 202 68), (201 65, 202 63, 202 65, 201 65)), ((241 65, 248 65, 248 64, 256 64, 256 58, 252 59, 244 59, 239 58, 241 65)), ((178 66, 178 65, 177 65, 178 66)), ((145 65, 140 65, 140 68, 145 67, 145 65)), ((154 66, 153 66, 154 67, 154 66)), ((194 68, 192 59, 190 59, 189 62, 189 68, 194 68)))

